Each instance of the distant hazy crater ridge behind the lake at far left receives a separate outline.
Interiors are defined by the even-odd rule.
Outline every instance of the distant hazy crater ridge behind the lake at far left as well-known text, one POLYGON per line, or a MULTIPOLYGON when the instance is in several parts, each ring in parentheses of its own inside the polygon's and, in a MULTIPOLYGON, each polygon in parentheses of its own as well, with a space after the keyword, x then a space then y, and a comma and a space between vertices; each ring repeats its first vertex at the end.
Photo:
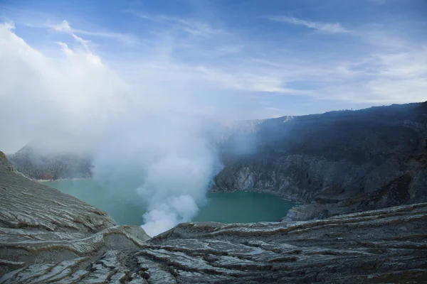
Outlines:
POLYGON ((90 178, 92 159, 75 153, 42 154, 31 145, 8 156, 12 165, 23 175, 36 180, 90 178))

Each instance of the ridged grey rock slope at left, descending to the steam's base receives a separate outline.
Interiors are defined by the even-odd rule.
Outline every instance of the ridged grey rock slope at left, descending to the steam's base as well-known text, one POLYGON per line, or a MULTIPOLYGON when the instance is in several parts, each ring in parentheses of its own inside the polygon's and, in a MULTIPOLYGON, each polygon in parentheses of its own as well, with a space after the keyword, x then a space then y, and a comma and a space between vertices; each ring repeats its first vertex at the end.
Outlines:
POLYGON ((108 251, 112 258, 111 251, 135 249, 149 239, 139 226, 117 226, 100 209, 29 180, 1 152, 0 197, 0 275, 21 271, 0 283, 46 283, 46 273, 74 273, 108 251), (32 280, 36 273, 40 278, 32 280))

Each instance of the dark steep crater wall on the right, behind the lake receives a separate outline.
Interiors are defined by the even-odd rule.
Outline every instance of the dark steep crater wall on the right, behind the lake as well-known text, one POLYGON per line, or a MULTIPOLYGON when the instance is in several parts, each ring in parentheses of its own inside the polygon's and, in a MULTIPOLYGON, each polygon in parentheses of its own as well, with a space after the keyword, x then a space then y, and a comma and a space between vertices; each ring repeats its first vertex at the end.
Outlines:
POLYGON ((238 126, 212 190, 272 192, 294 220, 427 201, 427 102, 238 126), (246 152, 238 153, 238 145, 246 152))

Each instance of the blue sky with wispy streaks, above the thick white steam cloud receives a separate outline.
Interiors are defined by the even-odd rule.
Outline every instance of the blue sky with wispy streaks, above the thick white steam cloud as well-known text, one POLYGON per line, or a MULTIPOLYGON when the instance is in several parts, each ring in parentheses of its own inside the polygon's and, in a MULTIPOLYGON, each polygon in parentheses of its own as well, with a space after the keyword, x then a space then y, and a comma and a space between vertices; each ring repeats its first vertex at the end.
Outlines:
POLYGON ((423 0, 1 3, 3 21, 46 55, 58 41, 78 48, 55 28, 66 21, 123 77, 137 62, 199 72, 251 117, 427 99, 423 0))

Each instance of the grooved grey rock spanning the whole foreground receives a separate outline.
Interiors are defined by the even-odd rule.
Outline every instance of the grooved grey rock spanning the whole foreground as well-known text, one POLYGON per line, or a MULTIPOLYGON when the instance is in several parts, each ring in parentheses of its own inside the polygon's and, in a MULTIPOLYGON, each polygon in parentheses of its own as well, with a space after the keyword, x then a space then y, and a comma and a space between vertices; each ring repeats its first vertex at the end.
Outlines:
POLYGON ((309 222, 187 223, 150 239, 0 152, 0 283, 421 283, 427 203, 309 222))

